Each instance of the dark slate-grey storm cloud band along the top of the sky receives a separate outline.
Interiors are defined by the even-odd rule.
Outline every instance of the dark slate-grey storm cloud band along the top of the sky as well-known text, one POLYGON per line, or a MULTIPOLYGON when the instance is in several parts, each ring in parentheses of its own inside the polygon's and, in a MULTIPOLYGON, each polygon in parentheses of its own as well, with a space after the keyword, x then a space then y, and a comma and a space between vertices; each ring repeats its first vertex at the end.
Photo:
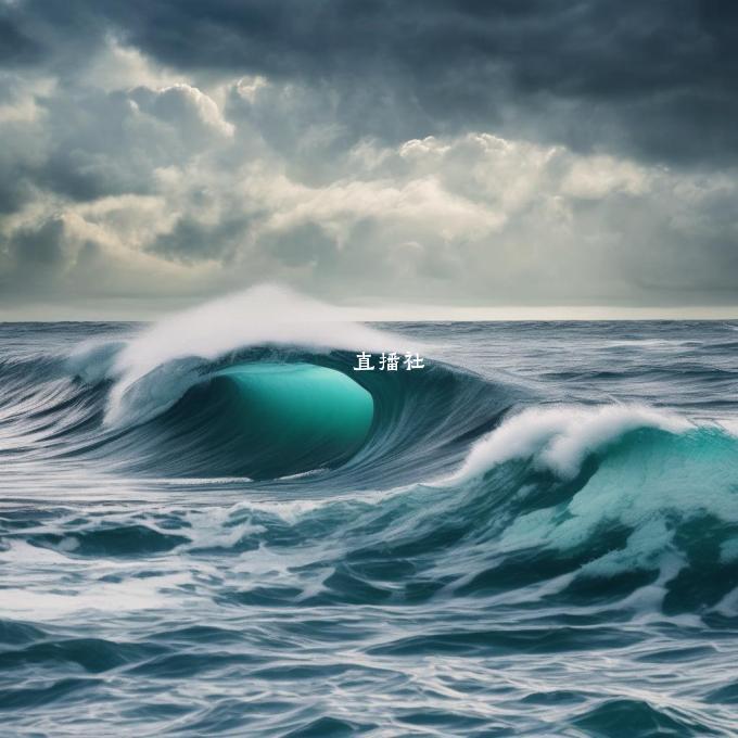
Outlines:
POLYGON ((18 62, 79 65, 115 34, 194 75, 328 84, 353 130, 390 140, 522 128, 664 162, 738 156, 730 0, 27 0, 1 23, 18 62))

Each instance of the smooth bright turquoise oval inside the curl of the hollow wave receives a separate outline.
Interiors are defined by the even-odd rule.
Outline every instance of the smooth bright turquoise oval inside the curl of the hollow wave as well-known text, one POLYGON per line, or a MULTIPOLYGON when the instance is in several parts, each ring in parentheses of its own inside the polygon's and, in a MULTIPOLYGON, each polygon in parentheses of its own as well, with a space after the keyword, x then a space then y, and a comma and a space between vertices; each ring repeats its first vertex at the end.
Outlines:
POLYGON ((371 394, 346 374, 311 364, 236 365, 213 385, 230 403, 233 433, 251 457, 255 479, 340 463, 366 441, 374 416, 371 394))

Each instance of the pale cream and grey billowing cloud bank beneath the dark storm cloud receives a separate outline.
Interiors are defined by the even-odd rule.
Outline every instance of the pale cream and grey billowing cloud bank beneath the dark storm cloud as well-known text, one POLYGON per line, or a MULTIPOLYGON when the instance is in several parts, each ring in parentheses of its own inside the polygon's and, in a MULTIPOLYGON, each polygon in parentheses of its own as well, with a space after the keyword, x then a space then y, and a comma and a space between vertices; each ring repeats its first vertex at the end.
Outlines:
POLYGON ((5 304, 265 279, 335 300, 669 304, 738 279, 730 173, 494 130, 368 138, 331 90, 188 79, 112 39, 72 81, 5 82, 5 304))

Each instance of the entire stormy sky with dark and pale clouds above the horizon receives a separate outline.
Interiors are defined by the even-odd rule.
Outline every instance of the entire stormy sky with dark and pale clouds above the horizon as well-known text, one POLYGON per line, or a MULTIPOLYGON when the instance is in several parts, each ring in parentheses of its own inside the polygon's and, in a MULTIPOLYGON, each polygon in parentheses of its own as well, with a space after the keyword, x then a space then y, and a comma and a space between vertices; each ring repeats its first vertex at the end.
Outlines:
POLYGON ((731 0, 0 0, 0 319, 738 317, 736 79, 731 0))

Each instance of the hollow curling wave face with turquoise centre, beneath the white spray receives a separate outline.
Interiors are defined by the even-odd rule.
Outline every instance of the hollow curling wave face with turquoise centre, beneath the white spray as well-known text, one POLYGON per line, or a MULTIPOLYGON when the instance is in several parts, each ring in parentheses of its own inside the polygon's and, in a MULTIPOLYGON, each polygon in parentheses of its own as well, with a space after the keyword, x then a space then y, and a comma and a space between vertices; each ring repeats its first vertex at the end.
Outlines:
MULTIPOLYGON (((74 403, 75 412, 62 404, 58 416, 53 409, 59 423, 49 428, 75 465, 113 465, 157 479, 258 482, 330 470, 329 479, 310 475, 304 483, 315 480, 322 493, 344 484, 377 489, 448 475, 469 444, 526 396, 441 362, 390 374, 355 374, 354 364, 346 352, 272 346, 217 361, 180 357, 126 391, 126 422, 119 425, 99 424, 110 384, 90 384, 77 368, 63 400, 74 403)), ((47 367, 38 369, 43 387, 47 367)), ((15 369, 3 373, 12 383, 15 369)), ((17 368, 18 397, 26 373, 17 368)), ((41 443, 28 448, 41 456, 58 450, 41 443)))

